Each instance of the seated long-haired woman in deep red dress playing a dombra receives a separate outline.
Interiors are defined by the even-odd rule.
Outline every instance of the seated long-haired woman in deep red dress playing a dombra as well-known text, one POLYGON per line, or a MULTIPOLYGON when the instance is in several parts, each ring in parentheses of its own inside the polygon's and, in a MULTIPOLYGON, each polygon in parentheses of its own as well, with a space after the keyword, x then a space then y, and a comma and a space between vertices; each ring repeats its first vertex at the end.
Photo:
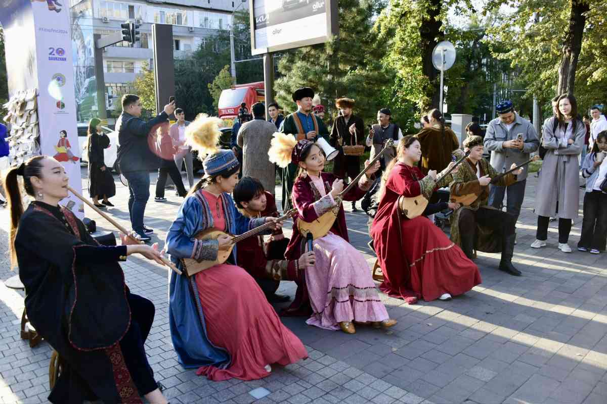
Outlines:
MULTIPOLYGON (((423 195, 429 199, 436 188, 450 180, 447 176, 437 182, 434 170, 424 176, 414 166, 420 158, 419 141, 413 136, 403 137, 396 158, 382 177, 379 208, 371 227, 373 245, 385 278, 379 288, 409 304, 419 298, 449 300, 481 283, 478 267, 443 231, 426 216, 407 219, 399 210, 400 196, 423 195)), ((424 215, 441 211, 447 205, 458 208, 453 203, 429 204, 424 215)))

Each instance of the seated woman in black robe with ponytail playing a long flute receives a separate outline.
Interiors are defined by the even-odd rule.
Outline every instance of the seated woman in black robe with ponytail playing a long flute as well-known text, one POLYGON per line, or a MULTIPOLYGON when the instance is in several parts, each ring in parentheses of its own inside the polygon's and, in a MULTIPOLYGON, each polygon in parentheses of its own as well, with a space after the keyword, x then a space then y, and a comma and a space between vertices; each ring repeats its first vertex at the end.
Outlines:
MULTIPOLYGON (((52 403, 164 404, 144 350, 154 304, 132 294, 118 261, 139 253, 160 261, 157 246, 100 246, 74 214, 58 161, 32 157, 8 171, 9 251, 25 286, 25 309, 36 331, 63 360, 52 403), (18 176, 35 197, 25 212, 18 176)), ((126 239, 126 236, 125 236, 126 239)), ((123 239, 123 244, 126 241, 123 239)))

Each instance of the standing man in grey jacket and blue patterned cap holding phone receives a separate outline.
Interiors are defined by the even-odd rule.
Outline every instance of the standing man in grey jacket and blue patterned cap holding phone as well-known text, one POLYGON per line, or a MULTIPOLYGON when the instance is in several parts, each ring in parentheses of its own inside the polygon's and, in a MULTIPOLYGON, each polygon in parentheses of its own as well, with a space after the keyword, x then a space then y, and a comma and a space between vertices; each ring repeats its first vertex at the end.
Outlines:
MULTIPOLYGON (((496 105, 498 118, 487 125, 484 146, 491 151, 491 162, 499 173, 510 168, 512 163, 517 165, 529 160, 529 154, 540 147, 540 141, 531 122, 521 118, 514 111, 512 102, 502 101, 496 105)), ((489 190, 489 205, 501 209, 504 194, 507 193, 506 211, 517 220, 521 213, 521 205, 525 196, 527 184, 527 167, 517 176, 517 182, 510 187, 491 185, 489 190)))

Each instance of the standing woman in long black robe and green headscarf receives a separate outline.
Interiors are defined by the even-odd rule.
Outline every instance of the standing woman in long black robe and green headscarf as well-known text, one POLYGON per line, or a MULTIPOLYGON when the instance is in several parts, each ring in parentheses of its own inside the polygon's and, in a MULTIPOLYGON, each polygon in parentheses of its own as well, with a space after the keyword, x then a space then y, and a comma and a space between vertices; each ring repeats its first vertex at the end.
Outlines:
POLYGON ((110 146, 110 138, 101 130, 101 121, 93 118, 89 122, 87 153, 89 155, 89 195, 98 208, 114 206, 108 198, 116 194, 112 170, 106 167, 103 150, 110 146), (101 204, 99 198, 103 198, 101 204))

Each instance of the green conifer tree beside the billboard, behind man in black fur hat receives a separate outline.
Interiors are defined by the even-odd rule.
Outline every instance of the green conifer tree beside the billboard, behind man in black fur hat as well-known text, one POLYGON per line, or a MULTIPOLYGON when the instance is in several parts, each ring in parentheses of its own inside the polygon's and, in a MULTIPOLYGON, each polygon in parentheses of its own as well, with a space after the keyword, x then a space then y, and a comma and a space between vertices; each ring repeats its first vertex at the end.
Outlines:
POLYGON ((305 85, 319 94, 329 116, 337 114, 334 100, 348 96, 356 100, 354 113, 367 122, 375 119, 390 98, 391 90, 384 88, 393 81, 390 70, 382 67, 385 48, 372 30, 383 6, 376 0, 339 0, 338 35, 324 44, 285 52, 278 64, 282 77, 276 80, 276 99, 285 111, 296 109, 291 94, 305 85))

